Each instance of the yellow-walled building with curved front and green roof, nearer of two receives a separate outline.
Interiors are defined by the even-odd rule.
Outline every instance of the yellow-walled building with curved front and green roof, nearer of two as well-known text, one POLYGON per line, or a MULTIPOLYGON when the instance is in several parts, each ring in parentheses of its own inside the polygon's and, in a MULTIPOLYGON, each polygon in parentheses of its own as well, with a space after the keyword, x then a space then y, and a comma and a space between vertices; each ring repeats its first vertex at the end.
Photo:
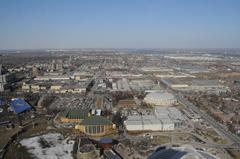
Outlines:
POLYGON ((75 126, 80 132, 90 136, 103 136, 114 132, 115 125, 103 116, 90 116, 75 126))

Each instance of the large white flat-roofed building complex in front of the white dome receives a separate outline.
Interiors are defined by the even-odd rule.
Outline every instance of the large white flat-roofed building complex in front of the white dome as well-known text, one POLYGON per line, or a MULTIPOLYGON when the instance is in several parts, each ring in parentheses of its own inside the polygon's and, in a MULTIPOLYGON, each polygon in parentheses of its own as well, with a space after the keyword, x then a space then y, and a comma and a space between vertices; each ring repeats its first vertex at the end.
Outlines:
POLYGON ((128 116, 124 122, 128 131, 171 131, 183 124, 182 113, 175 107, 157 107, 154 115, 128 116))

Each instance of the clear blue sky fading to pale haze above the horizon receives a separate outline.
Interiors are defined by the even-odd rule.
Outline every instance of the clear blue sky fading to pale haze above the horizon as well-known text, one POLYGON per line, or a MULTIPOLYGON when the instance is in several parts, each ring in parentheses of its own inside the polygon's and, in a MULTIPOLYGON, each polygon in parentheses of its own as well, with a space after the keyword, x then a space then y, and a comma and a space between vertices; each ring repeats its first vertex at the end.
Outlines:
POLYGON ((240 48, 240 0, 0 0, 0 49, 240 48))

